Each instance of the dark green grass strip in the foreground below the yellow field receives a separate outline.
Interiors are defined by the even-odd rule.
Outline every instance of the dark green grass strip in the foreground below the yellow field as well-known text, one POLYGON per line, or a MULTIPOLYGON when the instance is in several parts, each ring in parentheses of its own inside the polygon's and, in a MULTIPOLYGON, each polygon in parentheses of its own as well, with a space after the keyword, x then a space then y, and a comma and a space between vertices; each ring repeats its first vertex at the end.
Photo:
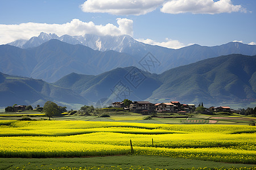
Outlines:
MULTIPOLYGON (((126 155, 91 158, 0 158, 0 169, 192 169, 255 167, 250 164, 167 158, 161 156, 126 155)), ((256 167, 255 167, 256 168, 256 167)))

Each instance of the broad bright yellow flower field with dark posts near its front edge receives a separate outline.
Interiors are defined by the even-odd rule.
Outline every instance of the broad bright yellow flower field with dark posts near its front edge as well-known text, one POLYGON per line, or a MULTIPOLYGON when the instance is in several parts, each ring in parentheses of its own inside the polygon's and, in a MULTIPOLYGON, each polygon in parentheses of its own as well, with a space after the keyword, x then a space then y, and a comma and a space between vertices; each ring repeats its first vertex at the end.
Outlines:
POLYGON ((242 125, 0 121, 0 157, 126 155, 131 140, 134 154, 255 164, 255 131, 242 125))

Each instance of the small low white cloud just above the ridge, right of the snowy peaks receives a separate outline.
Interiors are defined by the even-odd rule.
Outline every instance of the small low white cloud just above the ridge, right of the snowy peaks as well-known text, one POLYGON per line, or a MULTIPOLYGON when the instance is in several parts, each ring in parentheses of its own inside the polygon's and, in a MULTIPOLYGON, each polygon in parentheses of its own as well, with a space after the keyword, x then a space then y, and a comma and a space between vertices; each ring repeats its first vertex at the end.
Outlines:
POLYGON ((186 46, 183 43, 179 42, 178 40, 172 40, 172 39, 168 39, 168 38, 166 38, 166 41, 164 41, 164 42, 156 42, 151 39, 146 39, 146 40, 145 39, 137 39, 137 41, 143 42, 145 44, 159 45, 159 46, 163 46, 166 48, 172 48, 172 49, 179 49, 179 48, 186 46))

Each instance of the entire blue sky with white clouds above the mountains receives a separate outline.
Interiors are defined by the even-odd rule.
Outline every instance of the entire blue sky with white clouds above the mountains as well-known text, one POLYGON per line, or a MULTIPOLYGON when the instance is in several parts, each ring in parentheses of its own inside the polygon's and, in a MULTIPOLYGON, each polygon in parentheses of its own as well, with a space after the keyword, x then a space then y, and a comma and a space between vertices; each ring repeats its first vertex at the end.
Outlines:
POLYGON ((255 0, 1 0, 0 44, 40 32, 130 35, 167 48, 256 45, 255 0))

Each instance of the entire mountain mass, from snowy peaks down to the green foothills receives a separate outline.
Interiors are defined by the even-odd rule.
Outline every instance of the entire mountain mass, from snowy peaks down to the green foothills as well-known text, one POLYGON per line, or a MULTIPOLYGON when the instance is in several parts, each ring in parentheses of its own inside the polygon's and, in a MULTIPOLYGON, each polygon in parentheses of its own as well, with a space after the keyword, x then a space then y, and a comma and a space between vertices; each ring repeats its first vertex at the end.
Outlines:
POLYGON ((102 106, 125 98, 255 102, 255 55, 256 45, 240 42, 168 49, 126 35, 40 33, 0 45, 0 107, 47 100, 102 106))

